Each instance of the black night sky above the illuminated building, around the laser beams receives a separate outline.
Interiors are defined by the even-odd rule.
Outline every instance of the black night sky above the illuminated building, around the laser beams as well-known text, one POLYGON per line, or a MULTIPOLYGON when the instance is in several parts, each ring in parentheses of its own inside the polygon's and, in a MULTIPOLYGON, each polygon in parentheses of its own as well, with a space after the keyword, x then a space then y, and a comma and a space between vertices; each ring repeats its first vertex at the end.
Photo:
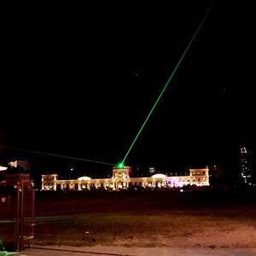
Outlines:
MULTIPOLYGON (((256 16, 249 1, 223 2, 213 4, 126 165, 234 165, 240 146, 253 148, 256 16)), ((212 1, 23 4, 6 9, 3 22, 1 144, 116 164, 212 1)), ((38 170, 111 170, 7 151, 28 155, 38 170)))

